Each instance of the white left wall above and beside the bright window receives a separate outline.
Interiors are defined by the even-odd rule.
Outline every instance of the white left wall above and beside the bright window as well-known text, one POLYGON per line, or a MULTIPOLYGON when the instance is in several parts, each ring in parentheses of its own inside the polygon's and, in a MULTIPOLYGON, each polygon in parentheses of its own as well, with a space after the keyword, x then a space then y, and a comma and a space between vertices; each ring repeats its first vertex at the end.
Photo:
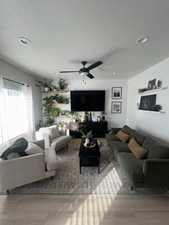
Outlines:
POLYGON ((35 126, 38 125, 41 118, 41 93, 38 87, 35 86, 35 78, 30 74, 22 72, 16 67, 10 65, 7 62, 0 60, 0 74, 8 79, 12 79, 21 83, 28 83, 32 85, 33 105, 34 105, 34 117, 35 126))

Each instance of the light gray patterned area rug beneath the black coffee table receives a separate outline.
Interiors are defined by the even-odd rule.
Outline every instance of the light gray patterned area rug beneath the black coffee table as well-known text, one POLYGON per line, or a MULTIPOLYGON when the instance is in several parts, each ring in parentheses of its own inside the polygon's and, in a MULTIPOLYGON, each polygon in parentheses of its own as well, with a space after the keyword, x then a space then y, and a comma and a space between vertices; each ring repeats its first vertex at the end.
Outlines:
POLYGON ((119 166, 113 160, 113 152, 105 139, 101 142, 101 173, 97 168, 83 167, 79 173, 78 150, 80 140, 72 140, 68 150, 57 153, 58 168, 53 179, 45 179, 12 191, 12 194, 164 194, 164 190, 139 188, 131 191, 125 178, 121 178, 119 166))

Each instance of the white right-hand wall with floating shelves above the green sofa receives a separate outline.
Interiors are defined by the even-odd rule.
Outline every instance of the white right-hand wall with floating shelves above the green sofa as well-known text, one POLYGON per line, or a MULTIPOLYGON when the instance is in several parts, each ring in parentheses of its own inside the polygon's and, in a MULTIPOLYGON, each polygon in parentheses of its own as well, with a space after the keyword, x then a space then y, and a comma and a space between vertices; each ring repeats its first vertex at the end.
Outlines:
POLYGON ((154 78, 162 80, 163 87, 169 86, 169 58, 128 81, 127 124, 169 142, 169 89, 156 92, 157 104, 162 105, 165 113, 137 109, 141 96, 138 89, 146 87, 154 78))

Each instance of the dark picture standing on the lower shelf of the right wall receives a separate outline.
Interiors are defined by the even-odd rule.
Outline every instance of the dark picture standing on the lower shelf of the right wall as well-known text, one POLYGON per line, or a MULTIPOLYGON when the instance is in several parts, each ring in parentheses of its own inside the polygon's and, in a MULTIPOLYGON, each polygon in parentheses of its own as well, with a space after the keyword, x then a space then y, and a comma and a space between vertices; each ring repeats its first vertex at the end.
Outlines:
POLYGON ((139 109, 154 111, 156 105, 156 95, 141 96, 139 109))

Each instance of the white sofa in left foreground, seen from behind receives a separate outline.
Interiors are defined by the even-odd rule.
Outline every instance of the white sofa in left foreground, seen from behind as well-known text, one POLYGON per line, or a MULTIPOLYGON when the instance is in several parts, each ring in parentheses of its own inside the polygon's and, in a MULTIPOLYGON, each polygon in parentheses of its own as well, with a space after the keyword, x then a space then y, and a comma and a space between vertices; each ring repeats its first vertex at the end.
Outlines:
MULTIPOLYGON (((34 142, 40 147, 43 141, 34 142)), ((55 176, 56 156, 52 149, 15 159, 0 160, 0 193, 55 176)))

